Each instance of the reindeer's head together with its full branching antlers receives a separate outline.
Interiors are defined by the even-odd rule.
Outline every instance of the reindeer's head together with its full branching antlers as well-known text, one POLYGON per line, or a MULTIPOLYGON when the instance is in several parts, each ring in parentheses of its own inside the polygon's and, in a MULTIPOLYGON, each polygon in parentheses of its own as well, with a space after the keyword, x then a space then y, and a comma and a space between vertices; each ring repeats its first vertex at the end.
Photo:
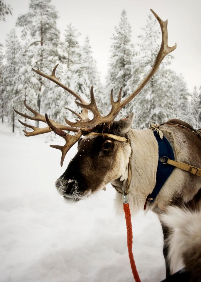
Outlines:
POLYGON ((75 103, 83 109, 82 113, 79 114, 67 108, 80 119, 76 120, 76 122, 71 122, 65 118, 65 121, 69 126, 50 120, 47 114, 45 114, 44 117, 30 108, 25 101, 24 104, 26 108, 35 115, 34 117, 15 110, 16 113, 23 117, 31 120, 39 120, 48 125, 45 128, 38 128, 19 120, 22 125, 33 129, 32 132, 24 131, 25 136, 43 134, 53 130, 56 134, 65 139, 66 142, 64 146, 50 145, 50 147, 61 150, 61 166, 63 165, 67 151, 79 140, 77 154, 70 161, 66 171, 56 181, 58 191, 66 198, 78 200, 83 196, 103 188, 107 183, 112 182, 115 179, 119 179, 119 181, 122 182, 122 185, 125 186, 124 182, 128 177, 128 163, 131 155, 128 133, 132 124, 133 114, 129 115, 126 119, 121 119, 119 121, 114 121, 114 119, 120 110, 141 91, 146 83, 148 83, 154 73, 156 73, 163 58, 176 48, 176 44, 173 47, 168 46, 167 21, 162 21, 153 10, 151 11, 158 20, 162 31, 161 48, 156 56, 152 69, 136 90, 124 101, 121 102, 122 88, 120 88, 116 102, 113 98, 113 91, 111 91, 111 111, 104 117, 100 115, 97 108, 93 86, 90 91, 91 102, 87 103, 77 93, 63 85, 59 78, 55 76, 55 71, 58 65, 55 66, 51 75, 46 75, 39 69, 33 69, 33 71, 39 75, 55 82, 72 94, 79 100, 79 102, 75 101, 75 103), (89 110, 93 113, 93 118, 91 120, 88 117, 89 110), (65 131, 73 131, 77 133, 75 135, 69 135, 65 131), (83 138, 80 140, 82 135, 83 138))

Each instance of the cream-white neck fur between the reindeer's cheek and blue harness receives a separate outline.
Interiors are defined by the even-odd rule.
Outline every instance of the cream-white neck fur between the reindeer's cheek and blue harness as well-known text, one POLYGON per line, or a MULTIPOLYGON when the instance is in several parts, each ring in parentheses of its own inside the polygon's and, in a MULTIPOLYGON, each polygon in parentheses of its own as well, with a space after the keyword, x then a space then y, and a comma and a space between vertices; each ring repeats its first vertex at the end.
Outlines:
MULTIPOLYGON (((129 130, 131 140, 131 184, 127 195, 131 212, 143 209, 146 197, 156 184, 158 166, 158 144, 153 132, 147 130, 129 130)), ((122 211, 123 196, 116 193, 115 207, 122 211)))

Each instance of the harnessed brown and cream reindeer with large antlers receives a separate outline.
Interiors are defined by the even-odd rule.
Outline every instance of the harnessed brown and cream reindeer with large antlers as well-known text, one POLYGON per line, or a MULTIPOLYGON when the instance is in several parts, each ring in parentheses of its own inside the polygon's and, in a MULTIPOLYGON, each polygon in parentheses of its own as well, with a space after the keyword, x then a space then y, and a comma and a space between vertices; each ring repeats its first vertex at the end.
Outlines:
MULTIPOLYGON (((148 75, 125 100, 121 101, 122 88, 116 102, 111 91, 112 108, 108 115, 100 115, 93 86, 90 91, 91 101, 87 103, 77 93, 63 85, 55 75, 58 65, 51 75, 46 75, 39 69, 33 71, 58 84, 79 101, 75 103, 82 107, 81 113, 75 113, 67 108, 79 120, 71 122, 65 118, 67 125, 62 125, 50 120, 47 114, 43 116, 33 110, 26 102, 24 105, 34 116, 15 111, 27 119, 47 124, 47 127, 39 128, 19 120, 22 125, 33 129, 32 132, 24 130, 25 136, 53 131, 65 139, 63 146, 50 145, 61 150, 61 166, 67 151, 79 140, 77 154, 56 181, 56 188, 65 199, 78 201, 111 183, 117 191, 115 199, 117 209, 122 208, 123 196, 126 194, 132 213, 144 209, 146 203, 146 212, 152 210, 161 220, 167 276, 177 271, 179 267, 185 266, 191 273, 191 281, 201 281, 201 178, 197 176, 199 169, 196 168, 201 167, 200 133, 178 119, 168 120, 145 130, 131 129, 133 113, 115 121, 120 110, 131 102, 156 73, 163 58, 176 48, 176 44, 168 46, 167 21, 162 21, 153 10, 151 11, 161 26, 161 48, 148 75), (93 113, 92 119, 88 116, 89 110, 93 113), (66 131, 76 134, 69 135, 66 131), (80 139, 82 135, 83 138, 80 139), (166 164, 167 167, 172 167, 171 173, 158 194, 151 198, 150 195, 158 182, 157 169, 161 159, 159 160, 157 138, 160 137, 161 140, 162 138, 167 140, 175 160, 190 164, 191 168, 187 172, 178 167, 173 169, 170 164, 166 164), (188 245, 185 242, 188 242, 188 245), (178 265, 179 259, 182 265, 178 265)), ((165 166, 163 161, 162 158, 162 165, 165 166)))

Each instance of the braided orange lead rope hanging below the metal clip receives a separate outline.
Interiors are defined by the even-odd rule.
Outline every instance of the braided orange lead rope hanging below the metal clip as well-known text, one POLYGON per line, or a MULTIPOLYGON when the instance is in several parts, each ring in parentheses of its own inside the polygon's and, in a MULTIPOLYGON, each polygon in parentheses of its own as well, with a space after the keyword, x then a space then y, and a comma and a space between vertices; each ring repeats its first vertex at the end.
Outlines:
POLYGON ((128 251, 129 251, 129 259, 131 263, 131 269, 133 273, 133 277, 136 282, 141 282, 140 277, 137 272, 137 268, 135 265, 132 246, 133 246, 133 231, 132 231, 132 224, 131 224, 131 212, 129 209, 129 203, 123 203, 124 205, 124 212, 126 218, 126 229, 127 229, 127 244, 128 244, 128 251))

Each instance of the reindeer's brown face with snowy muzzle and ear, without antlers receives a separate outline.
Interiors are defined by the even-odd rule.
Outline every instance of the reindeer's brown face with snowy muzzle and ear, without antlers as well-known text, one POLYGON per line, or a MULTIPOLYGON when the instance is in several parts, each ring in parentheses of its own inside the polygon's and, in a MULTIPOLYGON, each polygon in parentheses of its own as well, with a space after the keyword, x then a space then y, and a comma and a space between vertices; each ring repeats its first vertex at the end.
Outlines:
POLYGON ((78 200, 102 189, 114 179, 127 180, 131 155, 127 133, 132 121, 133 113, 114 122, 107 133, 101 133, 103 127, 100 126, 78 141, 77 154, 56 181, 56 187, 63 196, 78 200))

